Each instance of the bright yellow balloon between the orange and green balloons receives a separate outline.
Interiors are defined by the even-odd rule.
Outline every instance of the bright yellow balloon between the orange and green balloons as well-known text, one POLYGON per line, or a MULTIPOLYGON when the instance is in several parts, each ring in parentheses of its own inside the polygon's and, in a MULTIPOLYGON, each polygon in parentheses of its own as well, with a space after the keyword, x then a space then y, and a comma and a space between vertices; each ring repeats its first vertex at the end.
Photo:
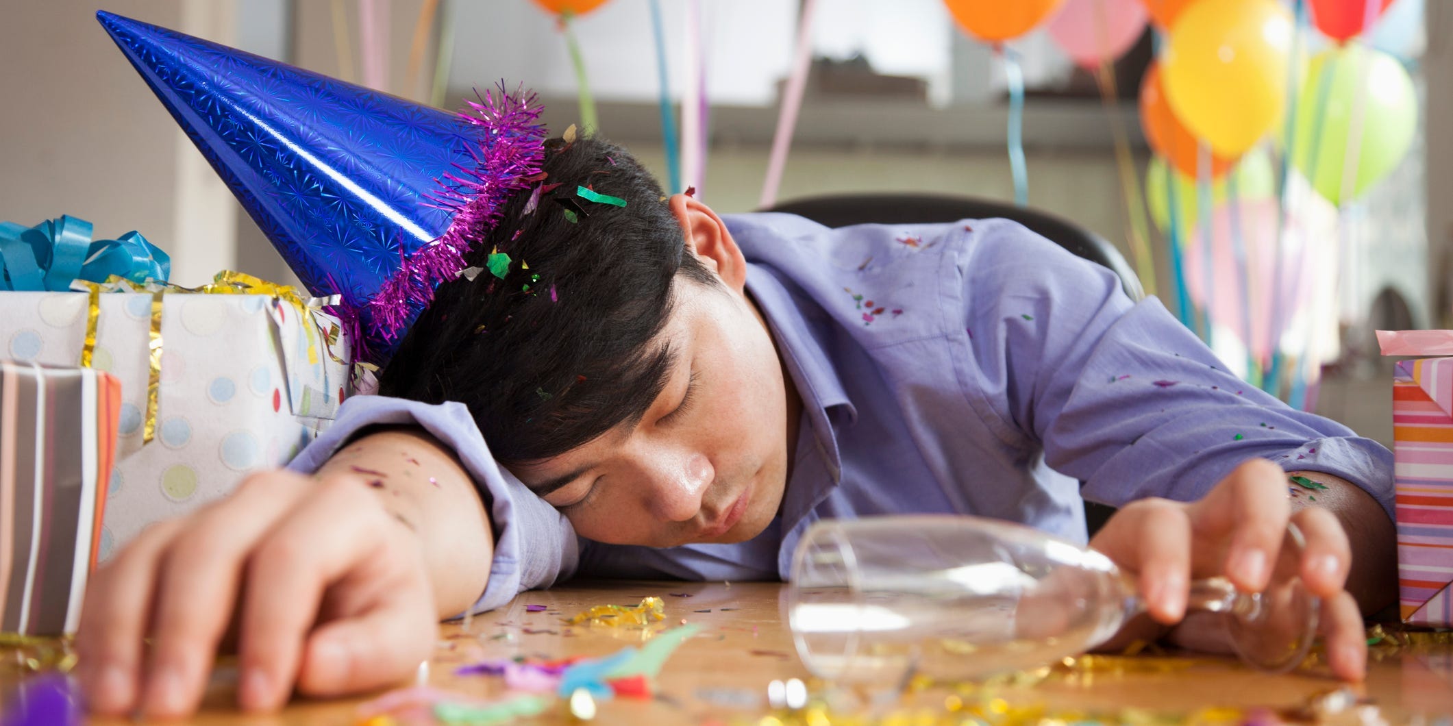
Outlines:
POLYGON ((1292 16, 1277 0, 1191 3, 1165 44, 1165 97, 1212 151, 1239 157, 1282 119, 1290 48, 1292 16))

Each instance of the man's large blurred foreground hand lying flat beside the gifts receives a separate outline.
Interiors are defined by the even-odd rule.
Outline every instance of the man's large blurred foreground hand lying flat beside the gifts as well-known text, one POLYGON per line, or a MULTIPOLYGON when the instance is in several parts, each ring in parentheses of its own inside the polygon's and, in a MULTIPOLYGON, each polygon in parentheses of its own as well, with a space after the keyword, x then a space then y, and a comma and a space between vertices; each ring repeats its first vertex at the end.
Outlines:
POLYGON ((356 473, 259 473, 142 531, 86 591, 76 648, 90 709, 195 711, 230 624, 247 710, 278 709, 294 684, 336 696, 408 677, 436 640, 434 594, 418 534, 375 488, 356 473))

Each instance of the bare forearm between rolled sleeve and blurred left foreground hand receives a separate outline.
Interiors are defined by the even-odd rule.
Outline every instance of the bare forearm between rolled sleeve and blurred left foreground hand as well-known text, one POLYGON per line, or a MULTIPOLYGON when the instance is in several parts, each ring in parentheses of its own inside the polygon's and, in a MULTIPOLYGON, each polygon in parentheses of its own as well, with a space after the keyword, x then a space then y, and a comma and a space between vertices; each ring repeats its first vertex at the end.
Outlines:
POLYGON ((318 476, 363 476, 394 518, 418 533, 439 619, 474 607, 490 581, 494 531, 453 452, 414 427, 389 427, 333 454, 318 476))

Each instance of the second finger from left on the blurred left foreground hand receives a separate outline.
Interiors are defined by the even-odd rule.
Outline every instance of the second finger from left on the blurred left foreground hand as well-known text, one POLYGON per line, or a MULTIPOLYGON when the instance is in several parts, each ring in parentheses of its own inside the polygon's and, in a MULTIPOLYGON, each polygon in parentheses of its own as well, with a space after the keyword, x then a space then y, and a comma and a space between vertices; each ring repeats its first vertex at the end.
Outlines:
POLYGON ((147 716, 196 710, 232 617, 247 553, 302 495, 301 479, 279 473, 248 479, 231 498, 186 520, 163 553, 142 700, 147 716))

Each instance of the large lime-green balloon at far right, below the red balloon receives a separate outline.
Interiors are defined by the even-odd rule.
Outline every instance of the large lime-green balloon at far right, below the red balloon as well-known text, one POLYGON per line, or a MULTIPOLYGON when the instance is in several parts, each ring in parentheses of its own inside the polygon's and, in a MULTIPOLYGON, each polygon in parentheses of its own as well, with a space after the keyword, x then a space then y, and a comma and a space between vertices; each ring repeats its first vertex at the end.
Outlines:
POLYGON ((1417 125, 1417 91, 1402 62, 1382 51, 1347 44, 1312 58, 1298 94, 1292 161, 1312 180, 1316 193, 1341 205, 1361 196, 1402 161, 1417 125), (1343 199, 1347 138, 1359 106, 1357 177, 1351 197, 1343 199))

